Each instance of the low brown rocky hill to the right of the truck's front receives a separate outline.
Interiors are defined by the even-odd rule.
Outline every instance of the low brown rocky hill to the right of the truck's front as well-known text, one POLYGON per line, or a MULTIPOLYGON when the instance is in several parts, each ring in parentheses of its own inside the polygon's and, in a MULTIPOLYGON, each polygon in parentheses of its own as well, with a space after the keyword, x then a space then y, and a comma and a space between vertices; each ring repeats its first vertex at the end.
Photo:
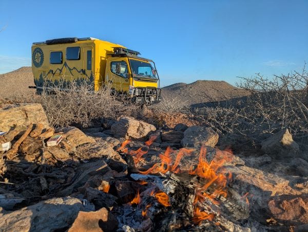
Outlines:
POLYGON ((176 83, 162 89, 165 99, 178 98, 185 105, 246 96, 247 93, 225 81, 198 80, 190 84, 176 83))

